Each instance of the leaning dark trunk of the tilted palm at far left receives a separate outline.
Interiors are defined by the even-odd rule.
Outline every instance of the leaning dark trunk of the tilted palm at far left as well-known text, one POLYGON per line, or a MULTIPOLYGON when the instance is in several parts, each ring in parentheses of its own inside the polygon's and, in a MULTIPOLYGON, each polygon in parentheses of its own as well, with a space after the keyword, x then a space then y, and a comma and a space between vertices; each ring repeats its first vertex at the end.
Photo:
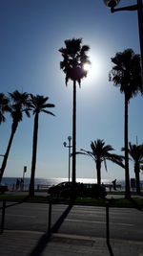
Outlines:
POLYGON ((6 166, 7 166, 7 161, 8 161, 8 157, 9 157, 9 153, 10 153, 10 147, 11 147, 12 140, 13 140, 13 137, 14 137, 14 134, 15 134, 17 126, 18 126, 17 123, 16 124, 12 124, 9 144, 8 144, 8 147, 7 147, 7 151, 4 154, 4 159, 3 159, 2 167, 0 169, 0 183, 2 181, 2 177, 4 175, 4 172, 5 172, 5 169, 6 169, 6 166))

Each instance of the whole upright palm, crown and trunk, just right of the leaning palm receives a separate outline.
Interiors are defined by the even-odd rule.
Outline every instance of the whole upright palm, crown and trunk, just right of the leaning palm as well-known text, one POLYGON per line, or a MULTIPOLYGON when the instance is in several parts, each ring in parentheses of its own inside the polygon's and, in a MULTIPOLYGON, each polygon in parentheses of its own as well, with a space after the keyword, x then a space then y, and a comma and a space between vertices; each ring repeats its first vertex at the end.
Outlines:
POLYGON ((34 175, 36 166, 36 152, 37 152, 37 139, 38 139, 38 122, 40 112, 54 116, 51 111, 47 110, 49 107, 54 107, 53 104, 47 104, 49 97, 42 95, 33 96, 31 94, 31 109, 34 115, 33 137, 32 137, 32 160, 31 160, 31 182, 30 182, 30 197, 34 196, 34 175))

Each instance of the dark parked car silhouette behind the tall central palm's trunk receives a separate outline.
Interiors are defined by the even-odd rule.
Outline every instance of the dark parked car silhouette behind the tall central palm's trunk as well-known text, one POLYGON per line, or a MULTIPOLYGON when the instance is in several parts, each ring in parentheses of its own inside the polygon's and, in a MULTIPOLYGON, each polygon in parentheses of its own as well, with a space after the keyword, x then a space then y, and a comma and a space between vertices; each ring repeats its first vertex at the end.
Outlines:
MULTIPOLYGON (((72 182, 62 182, 52 186, 48 193, 51 196, 72 197, 72 182)), ((81 198, 105 198, 107 196, 104 186, 90 183, 75 183, 74 194, 81 198)))

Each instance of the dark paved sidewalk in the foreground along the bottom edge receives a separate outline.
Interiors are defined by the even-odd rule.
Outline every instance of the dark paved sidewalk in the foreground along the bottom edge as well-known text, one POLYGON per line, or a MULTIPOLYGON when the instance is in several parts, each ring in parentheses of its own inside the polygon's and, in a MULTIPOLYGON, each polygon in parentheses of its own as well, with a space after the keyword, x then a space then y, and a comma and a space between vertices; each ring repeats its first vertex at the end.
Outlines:
POLYGON ((53 234, 50 240, 42 244, 42 232, 5 231, 0 235, 1 256, 143 256, 143 243, 133 241, 111 240, 112 254, 102 238, 53 234), (41 252, 31 251, 38 242, 41 252))

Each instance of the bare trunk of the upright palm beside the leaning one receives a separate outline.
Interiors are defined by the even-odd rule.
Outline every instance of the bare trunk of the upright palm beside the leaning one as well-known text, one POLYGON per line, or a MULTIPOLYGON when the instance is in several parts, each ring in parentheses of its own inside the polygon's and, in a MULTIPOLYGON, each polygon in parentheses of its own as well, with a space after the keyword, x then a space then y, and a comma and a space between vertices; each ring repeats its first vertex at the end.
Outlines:
POLYGON ((29 193, 30 197, 34 197, 34 175, 35 175, 36 153, 37 153, 38 119, 39 119, 39 113, 35 113, 33 137, 32 137, 31 182, 30 182, 30 193, 29 193))

